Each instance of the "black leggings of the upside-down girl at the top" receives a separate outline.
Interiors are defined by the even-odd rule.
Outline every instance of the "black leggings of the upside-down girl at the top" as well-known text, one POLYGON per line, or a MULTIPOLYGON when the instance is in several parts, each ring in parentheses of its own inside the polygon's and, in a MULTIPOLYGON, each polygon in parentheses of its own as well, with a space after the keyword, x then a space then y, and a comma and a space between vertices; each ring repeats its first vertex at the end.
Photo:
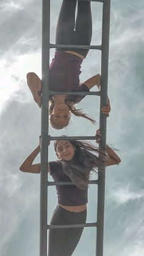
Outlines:
MULTIPOLYGON (((56 29, 56 43, 60 45, 90 45, 92 39, 92 13, 90 1, 78 1, 75 21, 76 0, 63 0, 56 29)), ((86 57, 88 49, 57 49, 76 51, 86 57)))

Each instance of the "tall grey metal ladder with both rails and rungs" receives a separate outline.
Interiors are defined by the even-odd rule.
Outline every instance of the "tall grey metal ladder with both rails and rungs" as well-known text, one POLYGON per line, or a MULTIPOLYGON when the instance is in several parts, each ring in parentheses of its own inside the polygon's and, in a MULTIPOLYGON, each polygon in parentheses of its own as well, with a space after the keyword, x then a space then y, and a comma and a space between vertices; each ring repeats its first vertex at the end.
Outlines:
MULTIPOLYGON (((81 1, 81 0, 79 0, 81 1)), ((83 0, 87 1, 87 0, 83 0)), ((41 174, 40 174, 40 256, 47 256, 47 232, 48 229, 70 227, 96 227, 96 256, 103 256, 104 234, 104 192, 105 192, 105 167, 98 170, 98 180, 90 181, 90 184, 98 185, 97 222, 77 225, 48 225, 48 186, 56 185, 56 182, 48 181, 48 144, 55 139, 65 137, 49 136, 48 131, 48 97, 55 94, 67 95, 98 95, 100 97, 100 109, 107 104, 107 78, 109 59, 109 26, 110 26, 110 0, 91 0, 103 4, 103 27, 101 45, 56 45, 49 42, 50 31, 50 0, 42 1, 42 105, 41 105, 41 174), (99 49, 101 51, 101 90, 99 92, 52 92, 49 90, 49 49, 50 48, 85 48, 99 49)), ((101 129, 101 142, 99 148, 106 148, 106 117, 99 110, 99 128, 101 129)), ((95 136, 67 137, 67 139, 95 140, 95 136)), ((71 185, 69 183, 57 183, 57 185, 71 185)))

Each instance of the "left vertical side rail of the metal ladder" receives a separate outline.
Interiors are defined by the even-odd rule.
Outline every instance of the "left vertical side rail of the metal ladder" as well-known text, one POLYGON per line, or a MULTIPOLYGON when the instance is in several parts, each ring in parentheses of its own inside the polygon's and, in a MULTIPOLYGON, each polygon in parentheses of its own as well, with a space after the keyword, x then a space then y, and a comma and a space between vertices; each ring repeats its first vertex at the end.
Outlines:
POLYGON ((48 211, 48 95, 49 95, 50 0, 42 1, 42 104, 41 104, 41 174, 40 174, 40 256, 47 256, 48 211), (46 108, 47 107, 47 108, 46 108))

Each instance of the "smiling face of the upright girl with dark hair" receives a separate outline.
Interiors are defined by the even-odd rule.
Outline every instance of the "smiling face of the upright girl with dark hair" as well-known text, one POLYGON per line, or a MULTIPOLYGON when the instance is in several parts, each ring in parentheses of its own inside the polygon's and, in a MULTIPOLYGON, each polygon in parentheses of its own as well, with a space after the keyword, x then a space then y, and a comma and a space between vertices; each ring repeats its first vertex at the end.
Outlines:
POLYGON ((59 141, 56 145, 58 158, 70 161, 74 156, 74 147, 70 141, 59 141))

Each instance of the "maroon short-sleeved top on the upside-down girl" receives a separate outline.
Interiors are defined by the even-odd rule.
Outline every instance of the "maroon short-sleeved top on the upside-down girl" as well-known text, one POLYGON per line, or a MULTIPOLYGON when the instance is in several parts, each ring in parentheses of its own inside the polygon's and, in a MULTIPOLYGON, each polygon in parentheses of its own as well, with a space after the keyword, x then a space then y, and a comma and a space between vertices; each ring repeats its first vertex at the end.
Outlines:
MULTIPOLYGON (((49 89, 57 92, 89 92, 85 84, 79 86, 82 59, 74 54, 56 51, 49 66, 49 89)), ((68 95, 67 101, 79 103, 85 95, 68 95)), ((50 97, 51 98, 51 97, 50 97)))

